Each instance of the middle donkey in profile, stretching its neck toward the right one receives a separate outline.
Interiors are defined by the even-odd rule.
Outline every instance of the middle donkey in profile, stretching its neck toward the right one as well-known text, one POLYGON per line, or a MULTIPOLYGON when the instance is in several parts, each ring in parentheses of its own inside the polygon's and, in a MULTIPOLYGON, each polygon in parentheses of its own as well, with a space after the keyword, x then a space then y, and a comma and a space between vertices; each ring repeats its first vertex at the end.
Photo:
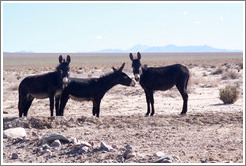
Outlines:
POLYGON ((100 78, 69 78, 68 86, 61 95, 60 115, 63 116, 64 108, 69 98, 78 101, 92 101, 93 116, 99 117, 100 103, 106 92, 117 84, 135 86, 135 81, 122 72, 125 63, 117 70, 100 78))

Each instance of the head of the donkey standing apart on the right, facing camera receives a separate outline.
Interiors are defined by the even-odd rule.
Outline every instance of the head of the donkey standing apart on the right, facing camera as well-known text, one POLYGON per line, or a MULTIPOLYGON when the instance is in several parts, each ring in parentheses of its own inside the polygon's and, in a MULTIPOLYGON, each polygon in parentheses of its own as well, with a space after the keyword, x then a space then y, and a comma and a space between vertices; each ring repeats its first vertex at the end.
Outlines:
POLYGON ((139 81, 140 75, 142 74, 141 62, 140 62, 141 54, 138 52, 137 58, 133 58, 132 53, 130 53, 129 57, 132 60, 132 70, 135 76, 135 80, 139 81))

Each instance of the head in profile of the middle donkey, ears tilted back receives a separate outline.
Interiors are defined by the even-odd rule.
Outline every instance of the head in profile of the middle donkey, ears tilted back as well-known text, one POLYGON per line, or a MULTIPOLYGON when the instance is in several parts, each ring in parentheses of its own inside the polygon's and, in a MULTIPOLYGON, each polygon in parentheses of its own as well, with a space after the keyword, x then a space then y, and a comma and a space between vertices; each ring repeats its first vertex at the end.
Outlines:
POLYGON ((135 81, 132 80, 126 73, 122 72, 125 63, 119 69, 112 67, 115 77, 117 77, 117 82, 121 85, 135 86, 135 81))

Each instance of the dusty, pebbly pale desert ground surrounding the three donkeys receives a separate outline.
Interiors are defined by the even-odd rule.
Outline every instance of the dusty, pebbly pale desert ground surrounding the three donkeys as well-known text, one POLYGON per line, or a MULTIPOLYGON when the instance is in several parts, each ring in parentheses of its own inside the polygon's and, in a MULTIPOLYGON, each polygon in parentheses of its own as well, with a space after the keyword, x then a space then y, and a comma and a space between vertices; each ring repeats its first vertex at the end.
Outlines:
MULTIPOLYGON (((71 76, 98 77, 111 72, 113 65, 117 67, 126 62, 123 71, 133 77, 127 54, 118 58, 97 56, 100 55, 87 60, 88 57, 72 55, 71 76)), ((3 130, 24 127, 27 138, 2 140, 3 163, 152 163, 158 160, 156 152, 173 156, 172 162, 243 162, 242 55, 192 54, 186 58, 142 55, 142 62, 149 66, 182 63, 189 68, 191 78, 188 112, 185 116, 180 115, 183 101, 176 87, 173 87, 154 94, 156 114, 144 117, 145 95, 137 84, 135 87, 117 85, 109 90, 101 102, 100 118, 92 117, 91 102, 71 99, 64 117, 50 118, 49 100, 36 99, 26 119, 18 118, 19 83, 26 76, 53 71, 58 60, 54 56, 51 58, 53 62, 45 61, 42 64, 42 61, 30 60, 30 57, 17 62, 6 56, 4 58, 3 130), (223 68, 222 73, 215 73, 219 68, 223 68), (230 77, 232 73, 235 77, 230 77), (219 99, 219 89, 228 84, 237 85, 240 94, 234 104, 225 105, 219 99), (75 145, 66 143, 60 147, 51 147, 49 155, 43 154, 40 150, 42 139, 50 133, 73 137, 93 146, 86 152, 78 152, 75 145), (100 150, 102 141, 114 150, 100 150), (127 145, 132 147, 135 155, 122 160, 127 145), (13 153, 18 154, 17 159, 12 159, 13 153)))

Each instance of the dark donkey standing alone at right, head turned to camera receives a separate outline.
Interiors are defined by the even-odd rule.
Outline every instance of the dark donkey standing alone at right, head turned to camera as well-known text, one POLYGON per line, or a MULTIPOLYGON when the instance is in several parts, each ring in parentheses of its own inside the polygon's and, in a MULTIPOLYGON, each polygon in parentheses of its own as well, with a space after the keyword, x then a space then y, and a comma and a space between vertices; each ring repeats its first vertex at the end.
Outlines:
POLYGON ((152 107, 152 112, 150 115, 153 116, 155 113, 153 96, 154 91, 165 91, 172 88, 174 85, 178 88, 184 101, 181 114, 186 114, 188 101, 187 84, 190 75, 187 67, 180 64, 165 67, 147 67, 146 65, 141 65, 141 54, 139 52, 137 53, 137 58, 133 58, 132 53, 130 53, 129 57, 132 61, 132 69, 135 80, 139 81, 146 95, 146 116, 150 113, 150 103, 152 107))

